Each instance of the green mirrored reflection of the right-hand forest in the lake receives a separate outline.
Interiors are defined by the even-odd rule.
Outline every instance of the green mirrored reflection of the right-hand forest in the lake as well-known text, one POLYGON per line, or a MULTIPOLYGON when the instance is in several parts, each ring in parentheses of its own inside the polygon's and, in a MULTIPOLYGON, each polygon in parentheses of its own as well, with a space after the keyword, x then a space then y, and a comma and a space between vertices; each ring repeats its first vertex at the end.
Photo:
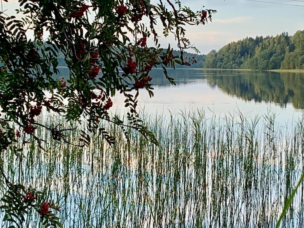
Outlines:
POLYGON ((304 109, 304 74, 267 73, 264 75, 206 75, 208 84, 218 86, 230 95, 255 102, 275 102, 282 107, 291 102, 296 109, 304 109))

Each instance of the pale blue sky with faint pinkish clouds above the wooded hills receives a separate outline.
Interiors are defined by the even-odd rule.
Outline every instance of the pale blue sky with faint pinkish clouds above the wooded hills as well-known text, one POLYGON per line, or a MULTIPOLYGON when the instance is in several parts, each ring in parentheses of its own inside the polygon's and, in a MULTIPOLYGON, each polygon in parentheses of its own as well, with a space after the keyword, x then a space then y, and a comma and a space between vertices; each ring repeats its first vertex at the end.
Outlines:
MULTIPOLYGON (((180 1, 182 5, 186 5, 194 11, 217 10, 217 13, 212 16, 211 23, 186 27, 187 38, 202 54, 207 54, 212 49, 218 50, 232 41, 241 40, 247 36, 275 36, 282 32, 293 35, 297 30, 304 30, 304 0, 261 0, 290 5, 246 0, 180 1)), ((151 0, 152 4, 157 2, 158 0, 151 0)), ((8 12, 18 8, 17 0, 9 0, 9 3, 3 2, 3 4, 4 9, 9 9, 8 12)), ((159 42, 162 47, 168 47, 168 43, 170 43, 171 47, 177 49, 173 36, 160 37, 159 42)), ((148 45, 153 44, 152 41, 147 43, 148 45)))

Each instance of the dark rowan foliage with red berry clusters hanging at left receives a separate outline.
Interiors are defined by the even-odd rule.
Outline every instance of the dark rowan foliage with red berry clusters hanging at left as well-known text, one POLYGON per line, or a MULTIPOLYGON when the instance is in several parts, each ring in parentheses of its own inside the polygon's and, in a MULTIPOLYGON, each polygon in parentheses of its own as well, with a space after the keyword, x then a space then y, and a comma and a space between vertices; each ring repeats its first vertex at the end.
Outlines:
MULTIPOLYGON (((185 25, 205 24, 216 12, 209 9, 193 12, 181 2, 170 0, 165 3, 160 0, 155 5, 149 0, 18 2, 16 15, 6 15, 5 10, 0 12, 1 152, 10 149, 17 137, 22 137, 23 143, 35 140, 42 147, 42 139, 35 133, 37 126, 50 131, 54 140, 73 144, 67 141, 66 133, 75 129, 39 122, 37 117, 43 110, 64 116, 70 122, 86 119, 88 132, 81 132, 82 144, 78 146, 90 143, 89 133, 101 134, 110 144, 115 142, 107 129, 99 126, 101 120, 122 129, 138 130, 147 140, 157 143, 136 112, 139 90, 145 88, 150 97, 154 95, 149 72, 157 65, 161 65, 169 82, 175 84, 166 67, 190 65, 183 50, 191 47, 198 51, 186 38, 185 25), (144 17, 149 26, 143 22, 144 17), (163 26, 164 36, 175 36, 180 60, 170 45, 166 50, 160 48, 154 28, 157 23, 163 26), (33 40, 27 37, 30 31, 34 33, 33 40), (148 47, 147 39, 153 40, 155 47, 148 47), (59 73, 58 57, 63 58, 69 68, 67 81, 54 78, 54 74, 59 73), (119 74, 119 68, 123 74, 119 74), (111 97, 117 92, 126 98, 127 122, 109 115, 113 105, 111 97)), ((19 150, 14 149, 17 156, 19 150)), ((3 170, 2 175, 5 177, 3 170)), ((40 211, 44 226, 60 224, 57 217, 49 213, 48 208, 53 204, 35 195, 36 204, 24 205, 25 188, 8 180, 6 183, 9 190, 2 200, 6 203, 3 209, 7 220, 22 224, 24 214, 34 208, 40 211)))

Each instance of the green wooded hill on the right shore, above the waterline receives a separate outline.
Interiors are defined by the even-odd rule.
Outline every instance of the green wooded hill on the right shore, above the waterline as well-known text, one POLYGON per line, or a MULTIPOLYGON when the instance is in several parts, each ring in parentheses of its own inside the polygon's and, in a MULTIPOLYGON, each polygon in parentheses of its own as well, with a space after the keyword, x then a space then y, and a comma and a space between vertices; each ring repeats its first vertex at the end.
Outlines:
POLYGON ((204 68, 222 69, 304 69, 304 31, 293 36, 282 33, 257 36, 232 42, 212 50, 206 56, 204 68))

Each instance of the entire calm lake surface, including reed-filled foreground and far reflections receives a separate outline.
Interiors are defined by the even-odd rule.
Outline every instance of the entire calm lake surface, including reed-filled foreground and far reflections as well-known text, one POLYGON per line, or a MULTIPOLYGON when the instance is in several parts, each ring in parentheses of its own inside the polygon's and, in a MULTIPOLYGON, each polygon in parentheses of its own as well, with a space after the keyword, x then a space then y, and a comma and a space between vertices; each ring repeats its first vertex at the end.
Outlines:
MULTIPOLYGON (((139 98, 158 145, 131 129, 126 139, 125 130, 104 122, 116 137, 112 146, 96 135, 88 147, 74 147, 38 129, 45 150, 33 142, 22 159, 1 154, 9 179, 62 206, 65 228, 275 227, 304 167, 304 74, 168 73, 177 86, 154 69, 154 97, 142 89, 139 98)), ((124 112, 123 97, 113 104, 124 112)), ((71 127, 54 116, 45 121, 71 127)), ((79 132, 67 140, 81 143, 79 132)), ((280 227, 304 227, 303 199, 302 183, 280 227)), ((40 222, 33 212, 22 227, 40 222)))

